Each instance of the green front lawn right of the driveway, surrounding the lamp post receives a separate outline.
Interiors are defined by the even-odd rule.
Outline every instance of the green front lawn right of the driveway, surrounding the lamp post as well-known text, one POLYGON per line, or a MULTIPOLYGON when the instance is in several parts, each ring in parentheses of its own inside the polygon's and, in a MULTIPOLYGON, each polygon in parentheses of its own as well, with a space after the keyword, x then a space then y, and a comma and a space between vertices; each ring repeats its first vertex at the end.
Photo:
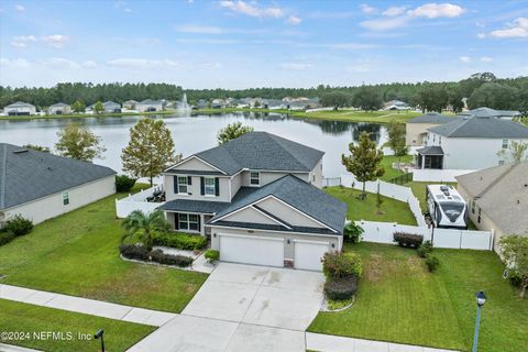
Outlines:
POLYGON ((341 312, 320 312, 309 331, 469 351, 474 294, 483 289, 488 301, 479 351, 526 351, 528 300, 502 278, 495 253, 435 250, 441 265, 431 274, 415 250, 365 242, 345 249, 364 261, 355 302, 341 312))

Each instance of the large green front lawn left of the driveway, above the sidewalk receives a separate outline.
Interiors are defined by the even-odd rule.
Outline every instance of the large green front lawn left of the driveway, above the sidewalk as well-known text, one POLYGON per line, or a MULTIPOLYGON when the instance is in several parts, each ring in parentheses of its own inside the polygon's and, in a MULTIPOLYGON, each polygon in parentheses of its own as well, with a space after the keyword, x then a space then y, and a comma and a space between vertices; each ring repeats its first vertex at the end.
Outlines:
POLYGON ((180 312, 206 274, 127 262, 114 196, 48 220, 0 248, 0 283, 180 312))

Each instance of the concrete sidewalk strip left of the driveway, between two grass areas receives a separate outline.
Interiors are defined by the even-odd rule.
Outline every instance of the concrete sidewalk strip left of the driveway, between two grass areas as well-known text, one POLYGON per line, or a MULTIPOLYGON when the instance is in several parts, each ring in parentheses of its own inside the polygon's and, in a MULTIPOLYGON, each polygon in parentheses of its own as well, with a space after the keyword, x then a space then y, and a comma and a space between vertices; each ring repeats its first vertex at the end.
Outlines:
POLYGON ((161 327, 177 315, 0 284, 0 298, 116 320, 161 327))

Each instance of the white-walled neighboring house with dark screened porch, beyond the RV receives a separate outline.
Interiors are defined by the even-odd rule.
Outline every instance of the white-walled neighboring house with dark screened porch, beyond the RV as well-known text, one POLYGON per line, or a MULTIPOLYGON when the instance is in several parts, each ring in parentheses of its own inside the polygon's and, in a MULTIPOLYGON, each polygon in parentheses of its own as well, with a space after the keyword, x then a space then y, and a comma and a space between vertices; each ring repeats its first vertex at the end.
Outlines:
POLYGON ((498 118, 461 117, 428 129, 418 168, 482 169, 505 163, 510 142, 528 142, 528 128, 498 118))

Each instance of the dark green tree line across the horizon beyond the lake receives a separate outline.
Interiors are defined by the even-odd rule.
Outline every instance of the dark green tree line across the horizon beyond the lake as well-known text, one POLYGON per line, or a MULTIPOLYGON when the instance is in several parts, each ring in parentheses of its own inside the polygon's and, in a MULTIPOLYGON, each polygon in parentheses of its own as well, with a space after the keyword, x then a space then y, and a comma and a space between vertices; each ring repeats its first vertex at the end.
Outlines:
POLYGON ((185 89, 169 84, 84 84, 63 82, 51 88, 0 86, 0 107, 25 101, 43 109, 56 102, 91 105, 96 101, 167 99, 180 100, 184 91, 190 103, 200 99, 222 98, 319 97, 324 106, 358 107, 377 110, 384 102, 402 100, 424 111, 442 111, 448 106, 454 111, 463 108, 466 99, 470 109, 488 107, 499 110, 528 111, 528 77, 497 78, 492 73, 479 73, 457 82, 393 82, 354 87, 319 85, 312 88, 250 88, 250 89, 185 89))

